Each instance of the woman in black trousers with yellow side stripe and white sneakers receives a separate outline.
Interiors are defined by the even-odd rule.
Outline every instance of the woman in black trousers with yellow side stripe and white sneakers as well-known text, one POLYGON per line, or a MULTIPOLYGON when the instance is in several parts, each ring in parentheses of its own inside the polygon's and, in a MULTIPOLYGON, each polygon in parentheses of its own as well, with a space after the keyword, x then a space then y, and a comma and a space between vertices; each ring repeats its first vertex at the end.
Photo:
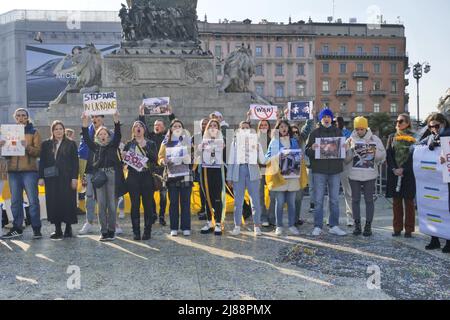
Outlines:
POLYGON ((201 187, 208 206, 208 221, 201 229, 202 234, 214 232, 222 235, 225 219, 225 143, 218 120, 211 119, 206 126, 202 143, 197 148, 200 155, 201 187), (214 217, 214 221, 213 221, 214 217), (215 222, 215 225, 214 225, 215 222))

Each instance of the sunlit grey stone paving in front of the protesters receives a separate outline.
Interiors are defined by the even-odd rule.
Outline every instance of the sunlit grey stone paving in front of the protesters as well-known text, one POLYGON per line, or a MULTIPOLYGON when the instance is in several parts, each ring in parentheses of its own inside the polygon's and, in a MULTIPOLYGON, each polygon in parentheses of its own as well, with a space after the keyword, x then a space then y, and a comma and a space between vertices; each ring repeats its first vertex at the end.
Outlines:
MULTIPOLYGON (((0 241, 0 299, 449 300, 450 255, 426 252, 424 235, 392 238, 390 203, 381 198, 376 210, 370 239, 313 238, 309 213, 299 237, 266 229, 258 239, 248 231, 229 235, 231 215, 222 237, 201 235, 194 215, 191 237, 170 237, 169 227, 156 225, 148 242, 131 240, 129 217, 113 243, 98 235, 54 242, 45 222, 42 240, 31 240, 27 229, 23 239, 0 241), (79 289, 67 285, 69 266, 80 270, 79 289), (374 266, 381 289, 367 285, 374 266)), ((74 231, 80 228, 81 221, 74 231)))

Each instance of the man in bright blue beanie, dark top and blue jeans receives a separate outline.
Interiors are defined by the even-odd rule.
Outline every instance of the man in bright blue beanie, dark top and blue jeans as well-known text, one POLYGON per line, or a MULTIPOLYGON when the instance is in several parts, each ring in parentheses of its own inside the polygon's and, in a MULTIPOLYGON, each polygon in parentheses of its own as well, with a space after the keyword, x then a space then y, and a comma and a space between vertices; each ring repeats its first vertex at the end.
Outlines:
POLYGON ((320 124, 308 138, 306 143, 306 155, 310 159, 311 171, 314 184, 314 231, 313 236, 319 236, 323 229, 323 205, 325 191, 328 186, 330 198, 330 230, 329 232, 338 236, 347 233, 339 228, 339 187, 340 175, 343 171, 344 159, 316 159, 317 138, 340 138, 342 130, 332 125, 333 112, 325 108, 319 113, 320 124))

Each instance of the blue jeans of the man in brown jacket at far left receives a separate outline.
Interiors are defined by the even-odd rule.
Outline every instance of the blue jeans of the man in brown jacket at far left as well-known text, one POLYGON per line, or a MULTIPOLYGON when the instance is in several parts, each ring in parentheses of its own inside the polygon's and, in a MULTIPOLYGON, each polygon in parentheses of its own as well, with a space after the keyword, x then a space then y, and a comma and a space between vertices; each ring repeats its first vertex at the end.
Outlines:
POLYGON ((13 226, 22 230, 23 226, 23 191, 25 190, 30 204, 31 226, 33 230, 41 228, 41 209, 39 206, 38 173, 10 172, 9 188, 11 190, 11 211, 14 217, 13 226))

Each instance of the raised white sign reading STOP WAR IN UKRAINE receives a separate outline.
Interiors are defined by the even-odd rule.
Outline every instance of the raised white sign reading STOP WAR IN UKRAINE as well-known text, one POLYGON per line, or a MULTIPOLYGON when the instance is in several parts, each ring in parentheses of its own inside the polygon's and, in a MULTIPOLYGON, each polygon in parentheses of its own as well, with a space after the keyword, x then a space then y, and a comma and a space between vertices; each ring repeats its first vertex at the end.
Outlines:
POLYGON ((117 112, 117 94, 115 92, 85 93, 83 107, 88 116, 115 114, 117 112))

